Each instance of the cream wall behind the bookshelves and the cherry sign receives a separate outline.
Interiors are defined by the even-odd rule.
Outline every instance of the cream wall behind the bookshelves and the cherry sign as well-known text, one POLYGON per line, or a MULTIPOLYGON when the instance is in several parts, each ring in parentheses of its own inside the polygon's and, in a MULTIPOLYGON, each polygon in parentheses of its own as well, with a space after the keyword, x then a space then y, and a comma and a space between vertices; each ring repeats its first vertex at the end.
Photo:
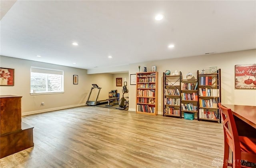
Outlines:
MULTIPOLYGON (((221 98, 223 104, 256 106, 256 90, 235 89, 234 66, 237 64, 256 64, 256 50, 254 49, 130 64, 129 74, 135 74, 138 72, 138 65, 141 66, 141 72, 143 70, 143 66, 146 66, 148 70, 151 69, 151 66, 156 66, 156 71, 159 72, 158 114, 162 114, 163 72, 166 70, 170 70, 171 72, 178 70, 182 72, 183 78, 186 79, 185 75, 188 72, 191 72, 194 76, 196 76, 197 70, 201 72, 203 68, 209 69, 211 66, 217 66, 221 69, 221 98)), ((129 93, 129 110, 135 111, 136 85, 130 85, 129 93)))

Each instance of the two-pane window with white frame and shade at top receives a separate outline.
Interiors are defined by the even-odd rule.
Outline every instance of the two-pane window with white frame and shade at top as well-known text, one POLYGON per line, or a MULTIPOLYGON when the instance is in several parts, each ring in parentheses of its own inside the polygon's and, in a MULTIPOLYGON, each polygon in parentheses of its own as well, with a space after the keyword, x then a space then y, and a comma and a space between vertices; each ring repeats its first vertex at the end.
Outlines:
POLYGON ((63 70, 30 68, 30 94, 64 92, 63 70))

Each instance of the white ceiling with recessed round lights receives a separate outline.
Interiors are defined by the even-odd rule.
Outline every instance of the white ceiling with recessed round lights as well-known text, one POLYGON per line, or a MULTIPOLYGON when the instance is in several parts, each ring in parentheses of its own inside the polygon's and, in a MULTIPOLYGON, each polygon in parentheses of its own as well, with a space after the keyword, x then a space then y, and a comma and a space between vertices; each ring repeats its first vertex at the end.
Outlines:
POLYGON ((93 69, 254 49, 256 1, 18 0, 0 26, 2 56, 93 69))

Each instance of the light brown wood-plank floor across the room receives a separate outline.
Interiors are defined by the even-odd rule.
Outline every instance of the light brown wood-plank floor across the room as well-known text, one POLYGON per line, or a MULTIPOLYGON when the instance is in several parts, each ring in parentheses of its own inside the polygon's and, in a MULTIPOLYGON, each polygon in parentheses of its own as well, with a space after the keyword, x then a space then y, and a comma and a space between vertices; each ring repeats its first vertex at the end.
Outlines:
POLYGON ((34 147, 1 168, 209 168, 223 158, 221 124, 80 106, 22 117, 34 147))

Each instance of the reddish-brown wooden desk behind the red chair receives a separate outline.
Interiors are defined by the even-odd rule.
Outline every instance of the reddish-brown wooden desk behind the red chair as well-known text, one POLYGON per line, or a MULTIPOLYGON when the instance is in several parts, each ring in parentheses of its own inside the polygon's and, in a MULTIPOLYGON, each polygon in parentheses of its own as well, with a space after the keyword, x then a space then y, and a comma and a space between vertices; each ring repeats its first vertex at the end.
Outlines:
POLYGON ((256 106, 223 104, 234 115, 236 128, 240 136, 256 137, 256 106))

